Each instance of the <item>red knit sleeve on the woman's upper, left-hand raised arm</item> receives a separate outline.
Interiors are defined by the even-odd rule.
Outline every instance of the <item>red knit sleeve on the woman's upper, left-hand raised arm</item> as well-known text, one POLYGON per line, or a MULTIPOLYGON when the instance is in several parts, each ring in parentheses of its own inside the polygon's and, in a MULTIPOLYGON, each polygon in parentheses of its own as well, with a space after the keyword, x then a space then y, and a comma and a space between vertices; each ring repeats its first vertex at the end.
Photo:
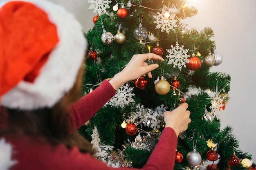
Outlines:
POLYGON ((78 129, 85 124, 114 95, 115 89, 104 80, 98 88, 68 107, 74 128, 78 129))

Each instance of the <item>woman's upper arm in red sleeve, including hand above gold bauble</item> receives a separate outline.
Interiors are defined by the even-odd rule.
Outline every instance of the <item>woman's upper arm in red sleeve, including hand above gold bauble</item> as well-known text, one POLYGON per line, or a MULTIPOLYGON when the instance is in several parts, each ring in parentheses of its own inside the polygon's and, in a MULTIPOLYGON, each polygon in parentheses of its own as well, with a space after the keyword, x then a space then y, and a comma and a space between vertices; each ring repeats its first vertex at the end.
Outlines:
POLYGON ((163 61, 164 59, 153 53, 133 55, 126 67, 110 79, 109 82, 104 80, 92 93, 85 95, 74 105, 70 106, 68 109, 74 127, 78 129, 85 124, 86 121, 96 114, 115 95, 115 90, 126 82, 137 79, 141 75, 145 76, 146 73, 151 78, 151 71, 158 68, 159 65, 148 65, 145 62, 146 60, 163 61))

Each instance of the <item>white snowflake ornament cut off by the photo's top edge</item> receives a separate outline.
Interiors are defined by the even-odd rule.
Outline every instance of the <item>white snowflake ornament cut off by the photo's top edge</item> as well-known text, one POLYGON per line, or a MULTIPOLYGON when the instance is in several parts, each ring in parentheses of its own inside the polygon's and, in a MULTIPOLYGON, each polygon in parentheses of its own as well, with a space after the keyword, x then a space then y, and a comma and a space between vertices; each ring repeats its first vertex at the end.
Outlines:
POLYGON ((106 13, 107 9, 110 8, 111 0, 88 0, 88 2, 91 4, 88 9, 93 9, 94 13, 106 13))

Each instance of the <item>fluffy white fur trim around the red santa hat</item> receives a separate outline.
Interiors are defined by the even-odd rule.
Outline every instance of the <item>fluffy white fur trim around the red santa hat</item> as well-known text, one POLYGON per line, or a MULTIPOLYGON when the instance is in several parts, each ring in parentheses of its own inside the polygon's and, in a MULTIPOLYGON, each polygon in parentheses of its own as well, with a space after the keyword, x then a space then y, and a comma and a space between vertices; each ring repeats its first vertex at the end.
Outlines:
MULTIPOLYGON (((0 4, 2 7, 7 0, 0 4)), ((56 25, 59 42, 33 83, 21 81, 2 96, 1 105, 33 110, 52 107, 72 88, 85 56, 86 41, 80 23, 63 7, 45 0, 31 2, 47 13, 56 25)), ((13 49, 15 50, 15 49, 13 49)))

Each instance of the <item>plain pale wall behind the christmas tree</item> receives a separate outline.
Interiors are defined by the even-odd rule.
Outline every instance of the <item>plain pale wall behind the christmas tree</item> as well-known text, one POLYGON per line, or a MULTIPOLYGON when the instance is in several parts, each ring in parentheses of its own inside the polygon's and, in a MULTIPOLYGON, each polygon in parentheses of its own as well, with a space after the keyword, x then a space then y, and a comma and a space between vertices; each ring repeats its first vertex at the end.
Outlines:
MULTIPOLYGON (((88 0, 52 0, 74 13, 84 31, 92 28, 96 15, 88 9, 88 0)), ((240 149, 252 154, 256 163, 256 0, 188 0, 198 9, 195 17, 184 22, 191 27, 211 27, 217 52, 223 57, 211 71, 231 75, 229 103, 220 115, 221 128, 230 125, 240 149)))

